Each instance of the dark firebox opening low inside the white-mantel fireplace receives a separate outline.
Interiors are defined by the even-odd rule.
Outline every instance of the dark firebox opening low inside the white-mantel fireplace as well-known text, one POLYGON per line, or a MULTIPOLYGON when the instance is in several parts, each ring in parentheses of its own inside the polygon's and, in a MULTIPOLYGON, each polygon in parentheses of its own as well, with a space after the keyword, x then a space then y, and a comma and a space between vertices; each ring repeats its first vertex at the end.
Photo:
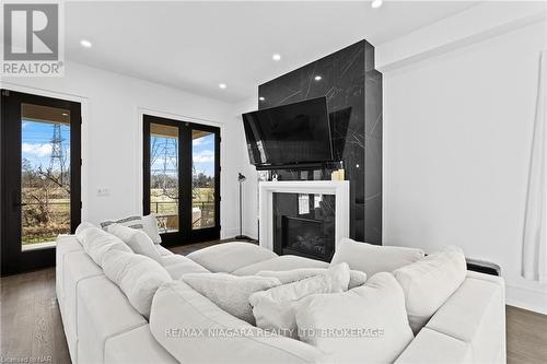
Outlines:
POLYGON ((335 236, 325 221, 283 215, 281 232, 282 254, 328 260, 334 253, 335 236))

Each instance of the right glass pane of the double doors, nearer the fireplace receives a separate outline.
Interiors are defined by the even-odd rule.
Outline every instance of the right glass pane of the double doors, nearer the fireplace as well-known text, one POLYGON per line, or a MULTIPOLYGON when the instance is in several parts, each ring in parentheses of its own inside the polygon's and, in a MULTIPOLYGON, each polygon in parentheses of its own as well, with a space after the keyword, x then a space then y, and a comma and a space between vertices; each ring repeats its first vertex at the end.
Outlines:
POLYGON ((214 227, 214 133, 191 131, 191 227, 214 227))

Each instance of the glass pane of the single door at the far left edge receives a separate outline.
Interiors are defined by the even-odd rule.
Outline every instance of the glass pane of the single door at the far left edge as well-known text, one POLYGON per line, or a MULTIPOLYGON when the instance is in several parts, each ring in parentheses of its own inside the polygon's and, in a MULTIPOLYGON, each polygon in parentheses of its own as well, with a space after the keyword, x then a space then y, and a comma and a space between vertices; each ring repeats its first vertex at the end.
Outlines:
POLYGON ((70 234, 70 110, 21 106, 22 250, 70 234))

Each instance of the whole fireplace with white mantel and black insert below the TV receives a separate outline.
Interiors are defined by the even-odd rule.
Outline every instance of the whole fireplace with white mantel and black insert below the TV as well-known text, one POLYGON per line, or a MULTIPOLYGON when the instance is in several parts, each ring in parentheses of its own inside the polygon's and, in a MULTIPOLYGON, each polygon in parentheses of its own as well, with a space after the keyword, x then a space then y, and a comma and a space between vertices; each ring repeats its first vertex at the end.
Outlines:
POLYGON ((347 180, 260 181, 258 191, 266 249, 330 261, 336 244, 350 236, 347 180))

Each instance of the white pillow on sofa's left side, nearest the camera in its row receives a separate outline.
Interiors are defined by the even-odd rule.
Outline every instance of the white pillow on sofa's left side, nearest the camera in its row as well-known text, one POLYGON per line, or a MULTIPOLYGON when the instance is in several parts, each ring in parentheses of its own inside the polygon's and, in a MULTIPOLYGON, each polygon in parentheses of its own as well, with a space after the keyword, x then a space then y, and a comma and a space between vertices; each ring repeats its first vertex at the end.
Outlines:
POLYGON ((131 306, 147 318, 150 317, 155 291, 163 283, 171 281, 167 271, 156 261, 125 251, 108 253, 103 260, 103 270, 124 292, 131 306))

